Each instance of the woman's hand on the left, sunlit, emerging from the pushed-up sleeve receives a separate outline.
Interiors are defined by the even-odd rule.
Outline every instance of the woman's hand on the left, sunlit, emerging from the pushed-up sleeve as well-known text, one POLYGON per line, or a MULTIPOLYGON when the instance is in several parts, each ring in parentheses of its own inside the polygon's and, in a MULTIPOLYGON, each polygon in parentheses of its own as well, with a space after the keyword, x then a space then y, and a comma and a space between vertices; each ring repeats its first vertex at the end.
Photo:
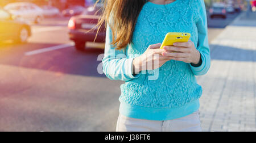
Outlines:
POLYGON ((161 44, 150 45, 147 50, 133 60, 133 73, 138 74, 142 70, 154 70, 160 68, 170 58, 162 55, 164 49, 160 49, 161 44))

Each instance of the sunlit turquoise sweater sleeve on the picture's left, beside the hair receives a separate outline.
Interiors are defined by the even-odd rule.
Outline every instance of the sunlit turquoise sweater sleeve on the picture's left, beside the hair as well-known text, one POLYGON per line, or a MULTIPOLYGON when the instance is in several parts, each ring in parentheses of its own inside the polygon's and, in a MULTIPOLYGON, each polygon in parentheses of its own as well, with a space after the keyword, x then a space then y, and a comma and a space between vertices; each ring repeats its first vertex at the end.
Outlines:
POLYGON ((112 80, 130 81, 140 74, 133 75, 133 60, 127 58, 125 50, 116 50, 112 43, 112 30, 109 24, 106 28, 105 54, 102 60, 102 69, 106 77, 112 80))

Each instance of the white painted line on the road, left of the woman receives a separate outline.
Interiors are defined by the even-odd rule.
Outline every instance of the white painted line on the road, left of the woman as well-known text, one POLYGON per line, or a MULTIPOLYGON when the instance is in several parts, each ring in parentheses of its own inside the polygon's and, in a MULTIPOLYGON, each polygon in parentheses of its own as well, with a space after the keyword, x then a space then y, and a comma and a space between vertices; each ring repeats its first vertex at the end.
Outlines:
POLYGON ((44 52, 55 51, 57 49, 63 49, 63 48, 68 48, 68 47, 72 47, 72 46, 74 46, 73 43, 63 44, 63 45, 56 45, 56 46, 53 46, 53 47, 48 47, 48 48, 38 49, 38 50, 35 50, 35 51, 26 52, 25 56, 31 56, 31 55, 34 55, 34 54, 40 54, 40 53, 44 53, 44 52))

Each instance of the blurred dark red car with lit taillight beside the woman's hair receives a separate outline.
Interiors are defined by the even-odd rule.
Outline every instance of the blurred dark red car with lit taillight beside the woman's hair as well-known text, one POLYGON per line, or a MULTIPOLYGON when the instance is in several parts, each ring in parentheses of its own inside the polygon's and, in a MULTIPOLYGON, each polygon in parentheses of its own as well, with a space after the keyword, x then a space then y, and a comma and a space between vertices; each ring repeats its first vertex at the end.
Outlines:
MULTIPOLYGON (((88 7, 88 9, 86 9, 83 14, 79 16, 73 16, 69 20, 69 39, 75 42, 75 47, 78 51, 83 51, 85 49, 85 44, 87 41, 94 41, 97 33, 96 25, 101 14, 101 7, 102 5, 97 5, 96 7, 88 7), (88 32, 91 29, 93 30, 88 32)), ((104 43, 105 37, 106 31, 105 26, 103 25, 100 28, 95 41, 97 43, 104 43)))

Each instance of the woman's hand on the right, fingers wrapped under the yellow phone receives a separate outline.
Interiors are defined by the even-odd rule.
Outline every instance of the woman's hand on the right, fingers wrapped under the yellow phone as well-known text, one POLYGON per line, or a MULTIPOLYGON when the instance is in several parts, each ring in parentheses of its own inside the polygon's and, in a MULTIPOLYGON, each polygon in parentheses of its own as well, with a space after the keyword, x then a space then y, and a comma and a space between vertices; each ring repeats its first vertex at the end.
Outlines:
POLYGON ((185 43, 174 43, 174 46, 164 47, 162 55, 170 60, 183 61, 191 64, 199 64, 201 54, 195 44, 189 40, 185 43))

